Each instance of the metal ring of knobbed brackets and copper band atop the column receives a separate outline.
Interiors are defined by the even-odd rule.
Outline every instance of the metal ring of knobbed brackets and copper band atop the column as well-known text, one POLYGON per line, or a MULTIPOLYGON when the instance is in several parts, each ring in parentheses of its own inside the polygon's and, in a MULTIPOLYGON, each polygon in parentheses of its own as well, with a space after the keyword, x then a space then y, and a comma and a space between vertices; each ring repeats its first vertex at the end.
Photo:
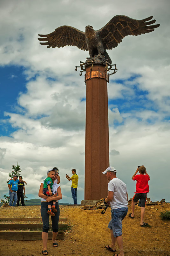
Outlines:
POLYGON ((83 72, 85 72, 85 84, 86 84, 86 80, 92 79, 92 78, 103 78, 109 83, 109 76, 111 76, 112 74, 115 74, 117 72, 116 64, 111 65, 107 61, 107 59, 105 59, 104 61, 99 61, 99 59, 97 59, 97 61, 96 61, 95 58, 90 58, 90 61, 88 61, 88 59, 89 58, 87 58, 86 62, 80 61, 80 66, 76 66, 76 69, 75 69, 77 71, 78 67, 81 68, 81 71, 79 74, 80 76, 82 75, 83 72), (95 64, 105 65, 105 72, 93 71, 93 65, 95 65, 95 64), (86 73, 86 66, 88 66, 88 65, 92 65, 92 67, 90 69, 90 72, 86 73), (112 66, 114 66, 114 68, 112 68, 112 66), (109 71, 109 70, 114 70, 114 72, 107 74, 107 71, 109 71))

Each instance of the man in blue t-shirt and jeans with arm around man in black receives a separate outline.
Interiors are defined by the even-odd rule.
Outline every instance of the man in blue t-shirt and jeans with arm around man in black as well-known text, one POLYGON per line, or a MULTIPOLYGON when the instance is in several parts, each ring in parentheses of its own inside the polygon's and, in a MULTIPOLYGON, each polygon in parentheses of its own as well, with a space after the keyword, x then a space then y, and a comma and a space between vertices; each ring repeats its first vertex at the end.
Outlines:
MULTIPOLYGON (((18 190, 18 182, 17 176, 13 175, 13 180, 10 179, 8 182, 8 187, 9 187, 9 194, 10 194, 10 206, 16 206, 17 203, 17 190, 18 190), (14 199, 14 202, 12 204, 12 201, 14 199)), ((23 181, 25 184, 27 184, 25 181, 23 181)))

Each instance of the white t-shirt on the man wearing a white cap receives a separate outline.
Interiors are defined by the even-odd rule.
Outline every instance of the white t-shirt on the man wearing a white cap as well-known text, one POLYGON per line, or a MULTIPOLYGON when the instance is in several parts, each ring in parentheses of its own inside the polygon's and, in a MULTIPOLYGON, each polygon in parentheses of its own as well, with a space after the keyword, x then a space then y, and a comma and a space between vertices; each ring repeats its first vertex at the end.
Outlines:
POLYGON ((108 183, 108 191, 113 191, 113 199, 110 202, 112 209, 127 207, 126 184, 118 178, 113 178, 108 183))

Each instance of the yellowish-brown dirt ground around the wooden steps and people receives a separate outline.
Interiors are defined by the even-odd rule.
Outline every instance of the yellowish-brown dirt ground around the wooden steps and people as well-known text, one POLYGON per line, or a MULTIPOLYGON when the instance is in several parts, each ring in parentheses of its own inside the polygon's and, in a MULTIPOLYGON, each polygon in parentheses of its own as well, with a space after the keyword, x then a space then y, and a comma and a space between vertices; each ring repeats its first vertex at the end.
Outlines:
MULTIPOLYGON (((170 204, 146 206, 144 221, 151 228, 140 227, 140 207, 135 206, 135 218, 128 215, 123 220, 124 253, 126 256, 164 255, 170 256, 170 221, 161 220, 160 212, 170 211, 170 204), (151 208, 152 207, 152 208, 151 208)), ((109 256, 105 245, 110 244, 107 224, 111 219, 110 208, 105 214, 102 209, 83 210, 81 206, 60 206, 60 217, 66 217, 71 229, 65 231, 65 239, 57 240, 58 247, 52 247, 48 240, 48 255, 109 256)), ((128 207, 131 213, 131 207, 128 207)), ((40 206, 0 208, 0 217, 40 217, 40 206)), ((0 240, 3 256, 42 255, 42 241, 0 240)), ((117 246, 117 252, 119 248, 117 246)))

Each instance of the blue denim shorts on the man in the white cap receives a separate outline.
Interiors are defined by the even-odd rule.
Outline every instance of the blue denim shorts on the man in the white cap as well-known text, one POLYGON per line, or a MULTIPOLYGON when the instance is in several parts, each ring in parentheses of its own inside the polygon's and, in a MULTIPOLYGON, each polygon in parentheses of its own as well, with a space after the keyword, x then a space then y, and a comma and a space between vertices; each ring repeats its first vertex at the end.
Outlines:
POLYGON ((122 236, 122 221, 127 214, 127 207, 112 209, 112 220, 108 224, 108 228, 113 230, 113 236, 122 236))

